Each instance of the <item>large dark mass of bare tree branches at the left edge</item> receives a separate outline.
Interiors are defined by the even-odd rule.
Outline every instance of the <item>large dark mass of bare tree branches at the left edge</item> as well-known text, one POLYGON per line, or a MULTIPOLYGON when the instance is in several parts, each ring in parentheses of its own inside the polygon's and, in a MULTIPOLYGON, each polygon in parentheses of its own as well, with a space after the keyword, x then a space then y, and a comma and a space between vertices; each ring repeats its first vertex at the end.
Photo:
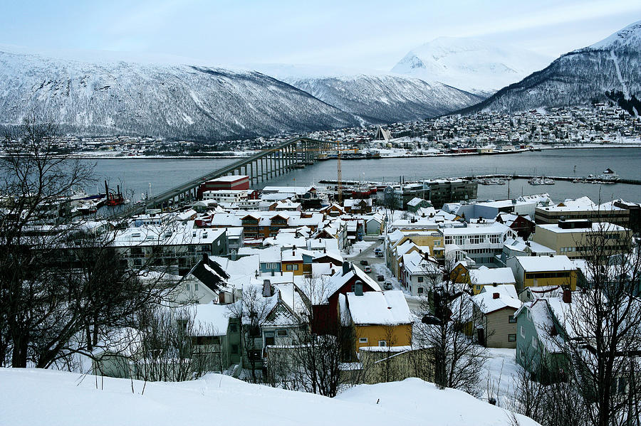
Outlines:
MULTIPOLYGON (((0 159, 0 363, 47 368, 92 356, 101 333, 135 325, 170 282, 123 265, 110 223, 71 221, 91 166, 56 155, 52 124, 24 122, 0 159)), ((150 259, 151 260, 151 259, 150 259)))

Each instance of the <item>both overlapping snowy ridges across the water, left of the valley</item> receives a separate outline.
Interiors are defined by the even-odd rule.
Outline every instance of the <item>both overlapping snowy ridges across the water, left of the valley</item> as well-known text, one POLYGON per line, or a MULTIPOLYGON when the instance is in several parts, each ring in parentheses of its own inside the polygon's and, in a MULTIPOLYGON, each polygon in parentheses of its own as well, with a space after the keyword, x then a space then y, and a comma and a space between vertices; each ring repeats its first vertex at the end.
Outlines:
POLYGON ((0 126, 35 112, 68 133, 224 140, 424 119, 481 100, 440 83, 353 70, 261 73, 81 57, 0 49, 0 126))

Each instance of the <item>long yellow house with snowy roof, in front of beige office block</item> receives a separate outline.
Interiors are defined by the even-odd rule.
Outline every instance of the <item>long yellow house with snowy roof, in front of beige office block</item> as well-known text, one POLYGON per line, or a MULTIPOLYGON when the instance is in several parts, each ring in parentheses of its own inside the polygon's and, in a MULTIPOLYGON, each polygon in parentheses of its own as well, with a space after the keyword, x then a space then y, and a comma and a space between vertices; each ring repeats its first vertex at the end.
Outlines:
POLYGON ((569 286, 576 289, 577 267, 567 256, 516 256, 508 260, 516 287, 569 286))

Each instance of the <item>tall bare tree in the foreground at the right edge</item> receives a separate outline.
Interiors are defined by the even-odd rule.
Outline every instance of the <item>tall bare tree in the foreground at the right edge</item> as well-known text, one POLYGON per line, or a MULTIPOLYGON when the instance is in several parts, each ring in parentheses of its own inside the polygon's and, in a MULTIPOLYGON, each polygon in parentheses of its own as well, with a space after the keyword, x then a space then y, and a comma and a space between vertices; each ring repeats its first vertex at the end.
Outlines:
POLYGON ((632 234, 599 223, 580 242, 587 288, 564 311, 570 381, 588 401, 591 425, 639 424, 641 255, 632 234), (617 253, 617 254, 614 254, 617 253))

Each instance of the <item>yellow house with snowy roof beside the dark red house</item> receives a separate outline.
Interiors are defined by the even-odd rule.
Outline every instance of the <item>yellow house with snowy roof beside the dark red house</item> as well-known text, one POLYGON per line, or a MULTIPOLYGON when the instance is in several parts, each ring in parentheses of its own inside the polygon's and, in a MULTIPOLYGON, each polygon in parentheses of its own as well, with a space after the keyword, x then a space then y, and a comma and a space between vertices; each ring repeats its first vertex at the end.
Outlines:
POLYGON ((340 295, 338 309, 341 324, 353 331, 353 354, 363 347, 412 345, 412 314, 400 290, 364 293, 357 284, 355 292, 340 295))

